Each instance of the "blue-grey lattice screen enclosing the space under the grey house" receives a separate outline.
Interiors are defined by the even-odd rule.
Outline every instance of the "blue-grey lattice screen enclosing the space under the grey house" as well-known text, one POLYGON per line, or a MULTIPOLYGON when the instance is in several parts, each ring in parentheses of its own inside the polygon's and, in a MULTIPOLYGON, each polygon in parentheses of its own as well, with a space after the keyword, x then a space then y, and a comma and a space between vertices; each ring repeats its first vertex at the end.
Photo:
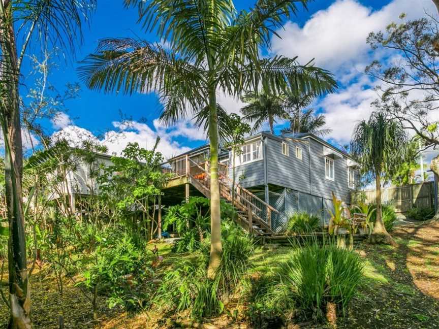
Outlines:
MULTIPOLYGON (((258 196, 264 199, 264 193, 258 196)), ((322 226, 325 226, 330 218, 328 210, 333 211, 332 200, 288 188, 277 192, 269 191, 269 204, 278 211, 271 213, 271 229, 275 233, 284 231, 288 218, 294 213, 307 212, 316 215, 321 218, 322 226)))

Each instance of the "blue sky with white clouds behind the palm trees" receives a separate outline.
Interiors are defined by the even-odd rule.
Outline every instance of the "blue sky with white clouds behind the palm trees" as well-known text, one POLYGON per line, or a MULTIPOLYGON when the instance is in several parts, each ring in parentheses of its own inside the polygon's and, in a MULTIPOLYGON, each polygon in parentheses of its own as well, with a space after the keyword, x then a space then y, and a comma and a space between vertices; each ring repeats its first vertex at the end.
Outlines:
MULTIPOLYGON (((247 9, 254 2, 235 1, 235 6, 247 9)), ((384 29, 391 21, 398 20, 401 12, 407 13, 409 18, 417 18, 425 15, 424 10, 434 11, 431 0, 317 0, 308 7, 308 11, 300 10, 297 17, 285 22, 285 28, 278 31, 282 39, 273 38, 273 48, 268 55, 298 55, 302 63, 315 58, 318 66, 334 73, 339 90, 318 100, 313 107, 327 115, 328 127, 333 129, 328 139, 342 145, 349 142, 355 122, 369 115, 370 102, 376 97, 370 89, 376 82, 362 73, 365 65, 372 59, 389 56, 370 52, 365 41, 368 33, 384 29)), ((137 10, 123 8, 122 0, 98 0, 97 11, 90 26, 84 28, 84 41, 77 47, 76 57, 67 62, 55 58, 58 68, 52 70, 49 82, 59 90, 68 82, 80 82, 77 61, 93 52, 101 38, 133 37, 160 41, 154 34, 142 30, 136 21, 137 10)), ((28 72, 27 64, 23 67, 23 95, 27 88, 32 88, 33 77, 29 77, 28 72)), ((159 149, 165 156, 205 143, 202 132, 189 121, 175 127, 163 127, 154 121, 161 111, 161 104, 154 94, 105 94, 88 90, 80 84, 80 97, 65 104, 67 113, 61 113, 56 122, 44 122, 50 134, 68 137, 72 142, 85 136, 107 145, 109 152, 117 153, 128 142, 151 147, 155 136, 159 135, 162 137, 159 149), (118 123, 120 113, 132 117, 130 129, 124 129, 118 123), (104 139, 100 136, 102 134, 104 139)), ((230 97, 218 97, 229 112, 237 112, 242 106, 230 97)))

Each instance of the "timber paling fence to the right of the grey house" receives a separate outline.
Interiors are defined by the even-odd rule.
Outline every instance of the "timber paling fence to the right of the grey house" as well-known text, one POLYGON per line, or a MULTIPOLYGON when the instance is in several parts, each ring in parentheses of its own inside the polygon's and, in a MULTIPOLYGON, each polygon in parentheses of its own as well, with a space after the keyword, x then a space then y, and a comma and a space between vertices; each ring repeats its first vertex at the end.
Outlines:
MULTIPOLYGON (((366 203, 375 203, 377 190, 364 191, 366 203)), ((392 205, 397 213, 405 214, 412 208, 437 207, 435 183, 424 182, 403 186, 392 186, 381 190, 381 202, 392 205)))

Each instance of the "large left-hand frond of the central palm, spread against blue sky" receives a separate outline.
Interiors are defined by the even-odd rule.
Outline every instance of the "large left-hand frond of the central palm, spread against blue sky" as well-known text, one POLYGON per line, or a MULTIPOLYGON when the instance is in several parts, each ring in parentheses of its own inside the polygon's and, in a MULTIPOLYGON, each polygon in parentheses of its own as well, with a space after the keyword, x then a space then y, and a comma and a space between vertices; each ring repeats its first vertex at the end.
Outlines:
POLYGON ((78 71, 90 89, 105 92, 168 93, 180 88, 187 96, 190 90, 201 89, 204 80, 203 72, 189 60, 177 58, 158 44, 130 38, 101 40, 96 54, 88 55, 78 71))

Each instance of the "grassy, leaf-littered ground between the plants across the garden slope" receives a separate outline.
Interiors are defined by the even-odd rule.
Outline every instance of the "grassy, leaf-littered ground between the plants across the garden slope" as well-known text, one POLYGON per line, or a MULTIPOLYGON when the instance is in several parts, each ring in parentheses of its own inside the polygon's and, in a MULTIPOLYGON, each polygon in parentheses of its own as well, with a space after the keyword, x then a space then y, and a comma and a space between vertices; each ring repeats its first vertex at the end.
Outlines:
MULTIPOLYGON (((349 311, 338 319, 339 328, 439 328, 439 222, 398 226, 393 232, 397 246, 375 246, 365 243, 357 251, 366 260, 364 280, 350 304, 349 311)), ((151 245, 151 248, 153 246, 151 245)), ((171 253, 170 245, 159 244, 164 256, 160 272, 172 268, 181 255, 171 253)), ((291 247, 266 249, 258 247, 253 255, 252 275, 269 274, 283 262, 291 247)), ((4 276, 3 282, 7 281, 4 276)), ((72 282, 66 280, 62 297, 51 276, 35 273, 32 277, 33 321, 35 328, 57 328, 58 317, 64 317, 66 328, 171 328, 176 323, 195 324, 163 316, 151 310, 127 314, 110 310, 100 301, 100 318, 92 320, 89 302, 72 282), (41 279, 41 281, 40 281, 41 279)), ((7 287, 2 285, 3 291, 7 287)), ((250 328, 243 318, 245 299, 226 305, 239 310, 237 316, 207 320, 205 328, 250 328)), ((8 309, 0 306, 0 327, 6 327, 8 309)), ((312 323, 296 323, 290 328, 317 328, 312 323)), ((325 326, 321 326, 325 327, 325 326)))

